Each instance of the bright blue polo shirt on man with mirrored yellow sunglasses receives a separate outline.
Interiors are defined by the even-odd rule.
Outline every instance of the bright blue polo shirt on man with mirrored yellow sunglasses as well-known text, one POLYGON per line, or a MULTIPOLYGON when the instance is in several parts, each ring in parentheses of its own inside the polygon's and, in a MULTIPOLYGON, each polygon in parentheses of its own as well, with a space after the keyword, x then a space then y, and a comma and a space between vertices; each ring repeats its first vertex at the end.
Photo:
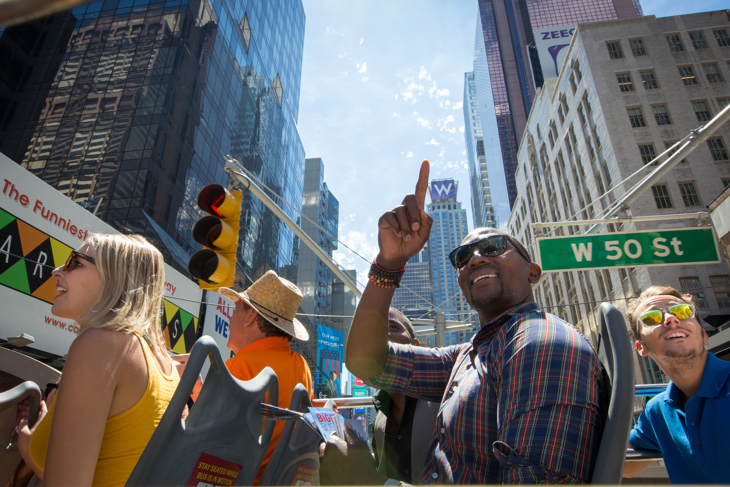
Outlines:
POLYGON ((672 483, 730 482, 730 362, 707 353, 699 391, 682 407, 680 388, 654 396, 631 430, 639 450, 660 450, 672 483))

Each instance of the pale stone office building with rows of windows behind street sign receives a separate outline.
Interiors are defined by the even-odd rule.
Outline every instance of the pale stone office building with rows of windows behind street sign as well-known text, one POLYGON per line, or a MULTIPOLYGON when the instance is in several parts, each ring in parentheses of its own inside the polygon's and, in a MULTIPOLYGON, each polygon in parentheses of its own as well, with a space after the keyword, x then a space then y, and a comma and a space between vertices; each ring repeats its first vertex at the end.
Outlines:
MULTIPOLYGON (((510 231, 534 258, 529 223, 603 218, 637 177, 655 169, 647 164, 730 104, 729 33, 724 11, 578 25, 559 77, 537 92, 518 155, 520 189, 510 231)), ((723 126, 639 196, 631 215, 704 211, 730 185, 729 141, 730 128, 723 126)), ((696 218, 641 221, 611 224, 604 231, 699 223, 696 218)), ((550 236, 585 229, 555 227, 550 236)), ((623 311, 629 298, 651 285, 694 294, 709 334, 730 321, 724 262, 552 272, 535 296, 539 306, 595 340, 600 302, 610 300, 623 311)), ((650 358, 635 358, 638 383, 666 382, 650 358)))

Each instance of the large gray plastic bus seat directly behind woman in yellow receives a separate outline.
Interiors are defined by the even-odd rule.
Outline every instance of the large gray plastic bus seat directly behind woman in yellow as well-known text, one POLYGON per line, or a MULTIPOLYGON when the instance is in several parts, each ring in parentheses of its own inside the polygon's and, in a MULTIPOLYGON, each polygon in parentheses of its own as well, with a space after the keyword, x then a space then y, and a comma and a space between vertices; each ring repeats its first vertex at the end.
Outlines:
POLYGON ((228 372, 215 341, 201 337, 193 346, 165 414, 129 476, 127 486, 184 486, 201 453, 243 467, 234 486, 250 486, 269 447, 274 421, 263 421, 259 403, 278 405, 279 381, 266 367, 252 380, 228 372), (203 388, 185 421, 181 415, 206 358, 203 388))

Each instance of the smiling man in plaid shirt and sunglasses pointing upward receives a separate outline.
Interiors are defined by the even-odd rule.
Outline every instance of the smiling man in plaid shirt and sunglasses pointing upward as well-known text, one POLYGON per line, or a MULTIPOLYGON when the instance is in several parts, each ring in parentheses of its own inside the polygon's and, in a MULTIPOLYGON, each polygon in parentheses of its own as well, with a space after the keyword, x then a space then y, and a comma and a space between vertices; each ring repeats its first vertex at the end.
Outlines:
MULTIPOLYGON (((424 161, 416 194, 380 218, 376 261, 384 269, 401 269, 429 239, 428 175, 424 161)), ((452 262, 479 313, 472 342, 388 342, 394 289, 371 280, 347 339, 347 369, 372 387, 441 402, 423 483, 590 482, 607 401, 596 352, 572 325, 537 309, 531 284, 541 269, 517 239, 476 229, 462 245, 452 262)), ((346 436, 347 443, 333 438, 323 448, 323 483, 393 483, 346 436)))

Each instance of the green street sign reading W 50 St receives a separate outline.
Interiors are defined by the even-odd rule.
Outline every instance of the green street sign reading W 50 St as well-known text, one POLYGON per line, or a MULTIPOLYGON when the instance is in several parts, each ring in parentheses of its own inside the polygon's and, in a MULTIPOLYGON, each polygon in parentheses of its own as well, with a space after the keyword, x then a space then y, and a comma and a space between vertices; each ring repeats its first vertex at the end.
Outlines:
POLYGON ((720 262, 711 226, 537 237, 543 272, 720 262))

